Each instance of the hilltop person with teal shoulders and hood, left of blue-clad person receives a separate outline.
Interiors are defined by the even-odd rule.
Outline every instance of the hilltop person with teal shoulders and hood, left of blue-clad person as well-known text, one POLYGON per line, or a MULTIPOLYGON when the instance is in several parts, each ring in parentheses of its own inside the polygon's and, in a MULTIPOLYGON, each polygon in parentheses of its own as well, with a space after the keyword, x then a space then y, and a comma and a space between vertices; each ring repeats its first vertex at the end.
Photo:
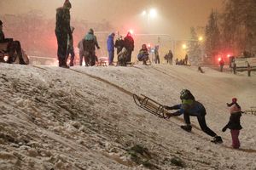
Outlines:
POLYGON ((88 33, 84 37, 84 56, 85 56, 85 66, 93 66, 96 63, 96 48, 100 49, 97 42, 97 38, 94 35, 93 29, 90 28, 88 33))

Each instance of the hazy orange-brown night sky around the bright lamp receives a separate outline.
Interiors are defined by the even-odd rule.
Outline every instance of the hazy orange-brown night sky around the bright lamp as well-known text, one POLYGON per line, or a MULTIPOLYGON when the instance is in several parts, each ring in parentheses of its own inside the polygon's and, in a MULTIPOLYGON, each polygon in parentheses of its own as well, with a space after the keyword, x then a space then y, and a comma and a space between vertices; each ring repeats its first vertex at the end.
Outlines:
MULTIPOLYGON (((0 0, 0 14, 22 14, 41 10, 55 18, 55 8, 64 0, 0 0)), ((72 19, 109 20, 115 29, 134 29, 137 33, 166 33, 186 37, 190 26, 205 26, 212 8, 220 9, 223 0, 70 0, 72 19), (142 11, 156 8, 154 20, 143 18, 142 11)))

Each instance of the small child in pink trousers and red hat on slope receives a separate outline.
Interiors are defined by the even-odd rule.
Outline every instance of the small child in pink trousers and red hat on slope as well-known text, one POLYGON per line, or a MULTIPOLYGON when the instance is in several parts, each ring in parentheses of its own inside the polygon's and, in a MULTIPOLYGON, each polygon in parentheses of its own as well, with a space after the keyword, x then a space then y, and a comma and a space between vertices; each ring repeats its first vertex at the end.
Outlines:
POLYGON ((241 107, 237 104, 237 99, 233 98, 232 103, 228 104, 230 107, 230 122, 222 129, 223 132, 230 128, 230 133, 232 137, 232 147, 235 149, 239 149, 240 141, 239 141, 239 133, 241 130, 240 117, 241 117, 241 107))

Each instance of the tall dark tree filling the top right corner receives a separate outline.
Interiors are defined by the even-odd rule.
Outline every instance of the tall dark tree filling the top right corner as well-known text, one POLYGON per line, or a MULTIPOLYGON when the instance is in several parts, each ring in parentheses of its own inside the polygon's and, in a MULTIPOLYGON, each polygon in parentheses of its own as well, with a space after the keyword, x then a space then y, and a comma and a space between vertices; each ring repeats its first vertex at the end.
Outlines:
POLYGON ((256 1, 227 0, 223 14, 223 47, 235 54, 256 53, 256 1))

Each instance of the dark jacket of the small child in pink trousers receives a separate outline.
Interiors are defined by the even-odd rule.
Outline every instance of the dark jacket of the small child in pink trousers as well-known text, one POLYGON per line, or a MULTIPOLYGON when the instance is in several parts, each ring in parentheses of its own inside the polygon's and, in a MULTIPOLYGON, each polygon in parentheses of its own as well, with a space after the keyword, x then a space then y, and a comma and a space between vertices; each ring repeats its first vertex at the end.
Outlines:
POLYGON ((241 117, 241 111, 232 113, 230 115, 230 122, 223 128, 223 131, 225 131, 227 128, 230 128, 231 130, 241 130, 241 124, 240 124, 240 117, 241 117))

